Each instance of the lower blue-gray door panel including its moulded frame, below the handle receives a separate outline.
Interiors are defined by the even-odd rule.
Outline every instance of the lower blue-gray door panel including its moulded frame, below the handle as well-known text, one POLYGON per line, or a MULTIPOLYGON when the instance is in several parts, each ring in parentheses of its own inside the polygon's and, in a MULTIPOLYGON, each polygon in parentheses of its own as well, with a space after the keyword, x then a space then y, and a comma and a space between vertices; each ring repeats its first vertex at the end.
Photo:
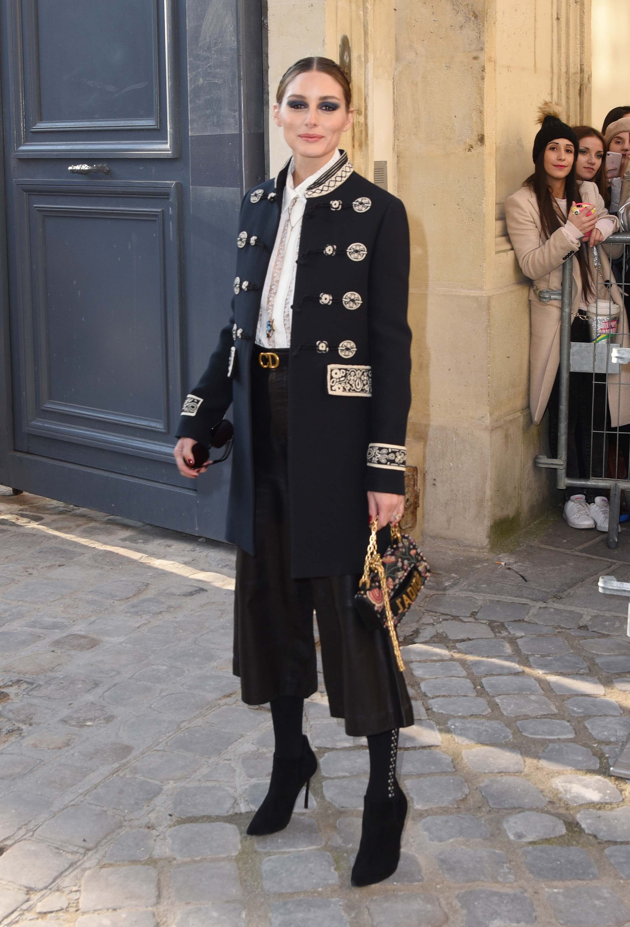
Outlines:
POLYGON ((55 423, 58 436, 68 423, 69 435, 77 425, 119 435, 121 450, 130 429, 172 446, 181 381, 177 186, 18 184, 27 435, 55 423))

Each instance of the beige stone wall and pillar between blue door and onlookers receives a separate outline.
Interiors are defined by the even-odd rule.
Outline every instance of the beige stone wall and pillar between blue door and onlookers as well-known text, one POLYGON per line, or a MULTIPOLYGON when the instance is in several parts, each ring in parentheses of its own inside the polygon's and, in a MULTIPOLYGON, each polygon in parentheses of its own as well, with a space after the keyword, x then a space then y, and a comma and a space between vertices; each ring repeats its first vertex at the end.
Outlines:
POLYGON ((533 169, 543 100, 590 118, 590 0, 312 0, 292 7, 290 27, 285 0, 269 6, 271 75, 322 36, 338 59, 348 36, 356 119, 344 144, 371 179, 387 161, 408 210, 419 533, 500 546, 556 498, 534 465, 544 428, 529 413, 528 286, 503 203, 533 169))

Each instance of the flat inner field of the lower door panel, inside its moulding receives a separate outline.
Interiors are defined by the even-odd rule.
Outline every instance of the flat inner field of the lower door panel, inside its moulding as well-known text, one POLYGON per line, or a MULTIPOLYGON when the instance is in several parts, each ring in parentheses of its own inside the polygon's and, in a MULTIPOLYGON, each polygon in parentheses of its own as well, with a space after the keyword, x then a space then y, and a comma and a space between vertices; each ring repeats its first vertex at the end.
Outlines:
POLYGON ((166 431, 160 212, 36 211, 43 408, 166 431))

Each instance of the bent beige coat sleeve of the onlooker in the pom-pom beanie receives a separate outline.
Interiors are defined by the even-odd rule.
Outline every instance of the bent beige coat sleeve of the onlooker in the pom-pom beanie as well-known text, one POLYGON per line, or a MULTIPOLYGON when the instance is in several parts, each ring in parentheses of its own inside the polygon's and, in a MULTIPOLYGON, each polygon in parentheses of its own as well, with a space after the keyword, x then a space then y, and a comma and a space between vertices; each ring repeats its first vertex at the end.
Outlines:
MULTIPOLYGON (((602 201, 603 202, 603 201, 602 201)), ((523 201, 514 194, 505 201, 505 219, 508 235, 521 270, 530 280, 538 280, 555 271, 579 248, 562 229, 556 229, 547 241, 540 241, 536 222, 537 207, 534 200, 523 201)))

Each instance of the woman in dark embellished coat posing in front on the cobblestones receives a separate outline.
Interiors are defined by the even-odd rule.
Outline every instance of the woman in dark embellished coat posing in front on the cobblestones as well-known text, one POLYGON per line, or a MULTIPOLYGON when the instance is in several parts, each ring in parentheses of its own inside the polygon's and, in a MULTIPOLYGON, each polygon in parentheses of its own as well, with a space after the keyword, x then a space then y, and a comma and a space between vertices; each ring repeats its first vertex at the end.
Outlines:
POLYGON ((354 595, 369 522, 388 535, 403 512, 410 254, 400 200, 337 147, 352 112, 334 61, 303 58, 284 74, 273 116, 293 157, 243 201, 232 316, 184 402, 174 454, 183 476, 205 472, 191 469, 193 444, 209 444, 233 402, 233 671, 248 705, 271 703, 275 734, 269 793, 247 833, 286 827, 304 785, 308 801, 314 608, 331 715, 368 739, 352 870, 367 885, 396 870, 407 814, 396 757, 410 697, 388 637, 362 626, 354 595))

